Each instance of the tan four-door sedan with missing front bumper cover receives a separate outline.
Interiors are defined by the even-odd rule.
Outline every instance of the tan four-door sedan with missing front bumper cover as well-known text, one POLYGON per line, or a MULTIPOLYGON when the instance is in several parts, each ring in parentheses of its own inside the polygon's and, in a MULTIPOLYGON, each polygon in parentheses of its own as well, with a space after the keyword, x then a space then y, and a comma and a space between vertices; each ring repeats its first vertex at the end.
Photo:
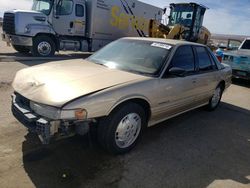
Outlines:
POLYGON ((121 154, 148 126, 205 105, 214 110, 230 83, 231 68, 204 45, 123 38, 86 60, 19 71, 12 111, 43 143, 96 130, 107 151, 121 154))

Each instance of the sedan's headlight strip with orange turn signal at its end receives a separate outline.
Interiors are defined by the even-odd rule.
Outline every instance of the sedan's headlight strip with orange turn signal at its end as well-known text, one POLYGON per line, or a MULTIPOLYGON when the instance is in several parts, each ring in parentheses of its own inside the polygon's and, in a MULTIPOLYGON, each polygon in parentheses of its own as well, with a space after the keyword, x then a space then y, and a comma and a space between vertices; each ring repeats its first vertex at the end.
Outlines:
POLYGON ((38 115, 49 119, 84 120, 87 119, 85 109, 60 110, 59 108, 30 102, 30 108, 38 115))

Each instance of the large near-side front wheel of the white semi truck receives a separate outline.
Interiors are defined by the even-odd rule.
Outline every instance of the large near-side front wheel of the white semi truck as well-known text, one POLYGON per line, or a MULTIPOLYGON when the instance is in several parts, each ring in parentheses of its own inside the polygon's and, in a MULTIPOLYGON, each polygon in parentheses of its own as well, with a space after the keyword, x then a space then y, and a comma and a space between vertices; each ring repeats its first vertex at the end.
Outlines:
POLYGON ((32 55, 49 57, 55 54, 55 42, 48 36, 37 36, 33 40, 32 55))

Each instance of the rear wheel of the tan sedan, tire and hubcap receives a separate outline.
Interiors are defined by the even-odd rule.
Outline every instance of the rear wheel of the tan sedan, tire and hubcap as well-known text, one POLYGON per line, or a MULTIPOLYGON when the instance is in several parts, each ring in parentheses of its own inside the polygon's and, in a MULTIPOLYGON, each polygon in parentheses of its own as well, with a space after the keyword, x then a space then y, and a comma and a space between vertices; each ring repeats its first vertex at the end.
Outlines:
POLYGON ((207 105, 207 109, 209 111, 213 111, 219 106, 220 101, 221 101, 221 97, 222 97, 222 94, 223 94, 223 90, 224 90, 224 87, 222 86, 222 84, 220 84, 215 89, 214 94, 211 97, 211 99, 209 100, 209 103, 207 105))

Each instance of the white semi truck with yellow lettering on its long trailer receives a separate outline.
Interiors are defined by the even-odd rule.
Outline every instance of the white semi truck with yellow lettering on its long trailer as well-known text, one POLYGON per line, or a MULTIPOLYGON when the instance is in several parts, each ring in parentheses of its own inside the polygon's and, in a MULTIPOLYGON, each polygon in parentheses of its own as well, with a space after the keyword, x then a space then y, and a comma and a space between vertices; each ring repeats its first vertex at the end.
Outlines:
POLYGON ((4 13, 2 39, 21 53, 97 51, 121 37, 146 37, 163 9, 137 0, 34 0, 31 10, 4 13))

